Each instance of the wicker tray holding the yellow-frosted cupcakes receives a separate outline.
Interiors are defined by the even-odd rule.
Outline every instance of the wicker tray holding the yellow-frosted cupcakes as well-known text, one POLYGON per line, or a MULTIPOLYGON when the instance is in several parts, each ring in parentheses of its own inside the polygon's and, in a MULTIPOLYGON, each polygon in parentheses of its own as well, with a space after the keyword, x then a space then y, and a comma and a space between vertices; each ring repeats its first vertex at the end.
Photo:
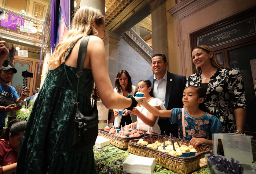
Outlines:
MULTIPOLYGON (((163 141, 164 135, 159 136, 160 141, 163 141)), ((150 137, 145 137, 146 141, 151 142, 150 137)), ((152 141, 156 142, 158 140, 158 136, 152 136, 152 141)), ((169 136, 166 136, 166 141, 170 140, 169 136)), ((185 142, 182 139, 178 139, 180 145, 184 145, 185 142)), ((167 154, 165 152, 161 152, 158 150, 154 150, 152 148, 137 144, 138 139, 131 140, 129 142, 128 151, 132 154, 145 156, 149 158, 155 158, 156 163, 162 167, 165 167, 169 170, 172 170, 176 173, 187 174, 191 171, 197 170, 202 166, 207 165, 207 163, 203 163, 200 161, 201 158, 204 158, 205 154, 208 154, 212 151, 212 146, 201 144, 195 149, 197 150, 197 154, 195 156, 183 158, 179 156, 173 156, 167 154)), ((187 141, 189 143, 189 141, 187 141)))

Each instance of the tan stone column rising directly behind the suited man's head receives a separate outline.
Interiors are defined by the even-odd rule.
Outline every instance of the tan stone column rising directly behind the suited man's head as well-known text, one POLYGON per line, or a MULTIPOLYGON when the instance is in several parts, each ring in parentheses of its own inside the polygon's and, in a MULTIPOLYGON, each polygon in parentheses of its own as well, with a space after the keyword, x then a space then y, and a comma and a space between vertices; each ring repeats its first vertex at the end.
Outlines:
MULTIPOLYGON (((152 18, 152 49, 153 54, 165 54, 167 61, 170 63, 168 56, 168 38, 167 38, 167 21, 166 21, 166 0, 147 0, 150 4, 152 18)), ((167 67, 169 70, 169 67, 167 67)))

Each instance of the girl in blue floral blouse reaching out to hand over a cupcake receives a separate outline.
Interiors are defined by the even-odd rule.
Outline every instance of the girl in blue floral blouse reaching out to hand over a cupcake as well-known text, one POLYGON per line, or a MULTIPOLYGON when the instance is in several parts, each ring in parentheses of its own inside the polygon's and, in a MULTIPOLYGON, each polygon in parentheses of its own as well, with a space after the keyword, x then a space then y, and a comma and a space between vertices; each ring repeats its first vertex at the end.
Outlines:
MULTIPOLYGON (((183 91, 183 107, 185 107, 185 132, 190 144, 197 147, 200 144, 212 145, 212 134, 222 132, 219 119, 204 105, 205 91, 202 87, 189 86, 183 91)), ((173 101, 175 102, 175 101, 173 101)), ((179 136, 183 137, 182 109, 158 110, 147 102, 142 105, 155 116, 168 117, 172 124, 179 125, 179 136)))

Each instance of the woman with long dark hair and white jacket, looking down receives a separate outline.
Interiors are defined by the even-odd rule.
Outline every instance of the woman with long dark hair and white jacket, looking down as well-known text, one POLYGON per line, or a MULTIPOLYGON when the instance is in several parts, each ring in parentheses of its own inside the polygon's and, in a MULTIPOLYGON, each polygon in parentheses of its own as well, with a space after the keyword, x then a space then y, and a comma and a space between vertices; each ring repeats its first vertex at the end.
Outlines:
MULTIPOLYGON (((133 95, 138 91, 137 87, 132 85, 132 79, 129 73, 126 70, 121 70, 117 73, 115 78, 115 88, 114 92, 121 94, 123 96, 133 95)), ((118 109, 113 109, 114 113, 114 126, 119 127, 120 125, 124 126, 125 124, 131 124, 132 119, 130 114, 125 109, 120 116, 118 109)))

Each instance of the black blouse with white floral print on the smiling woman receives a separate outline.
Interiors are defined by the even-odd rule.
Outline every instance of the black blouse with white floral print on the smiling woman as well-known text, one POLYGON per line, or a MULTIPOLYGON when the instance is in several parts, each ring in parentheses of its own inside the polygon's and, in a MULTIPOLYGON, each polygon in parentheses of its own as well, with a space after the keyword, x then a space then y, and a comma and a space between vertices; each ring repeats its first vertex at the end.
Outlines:
MULTIPOLYGON (((187 78, 186 87, 200 86, 201 80, 200 70, 187 78)), ((205 105, 211 114, 219 118, 222 132, 234 133, 236 125, 232 107, 233 109, 246 109, 244 82, 241 74, 233 68, 218 68, 209 81, 205 105)))

